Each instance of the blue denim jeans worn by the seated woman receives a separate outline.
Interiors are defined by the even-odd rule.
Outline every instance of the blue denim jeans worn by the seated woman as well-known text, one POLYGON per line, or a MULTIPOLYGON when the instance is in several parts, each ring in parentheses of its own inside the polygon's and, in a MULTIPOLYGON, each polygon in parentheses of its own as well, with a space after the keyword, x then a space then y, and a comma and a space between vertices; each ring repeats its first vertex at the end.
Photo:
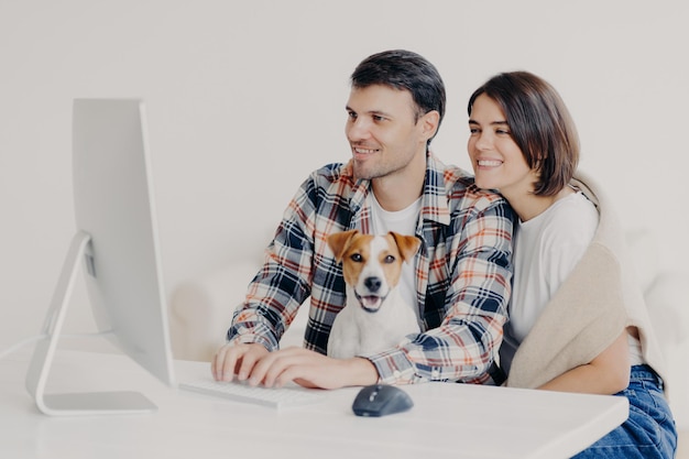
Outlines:
POLYGON ((656 372, 648 365, 632 367, 630 385, 615 395, 630 401, 630 417, 575 458, 674 458, 675 419, 656 372))

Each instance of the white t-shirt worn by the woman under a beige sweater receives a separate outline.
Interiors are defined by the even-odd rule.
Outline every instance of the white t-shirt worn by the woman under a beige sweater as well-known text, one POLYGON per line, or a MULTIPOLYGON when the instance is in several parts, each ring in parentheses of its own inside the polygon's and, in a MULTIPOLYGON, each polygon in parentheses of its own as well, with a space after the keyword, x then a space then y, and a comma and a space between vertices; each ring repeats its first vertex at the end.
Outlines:
POLYGON ((518 222, 510 320, 500 349, 505 373, 510 372, 520 343, 586 252, 598 219, 595 206, 583 194, 575 193, 557 200, 537 217, 518 222))

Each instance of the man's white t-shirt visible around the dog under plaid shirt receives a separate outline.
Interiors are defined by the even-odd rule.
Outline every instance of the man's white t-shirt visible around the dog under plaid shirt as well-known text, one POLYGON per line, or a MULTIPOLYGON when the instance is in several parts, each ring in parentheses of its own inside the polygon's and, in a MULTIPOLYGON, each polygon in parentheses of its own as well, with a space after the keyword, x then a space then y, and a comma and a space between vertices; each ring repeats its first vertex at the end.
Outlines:
MULTIPOLYGON (((422 211, 420 197, 407 208, 391 212, 381 207, 373 193, 369 193, 369 196, 371 199, 371 221, 373 223, 374 234, 385 234, 389 231, 405 236, 416 234, 416 226, 418 225, 418 217, 422 211)), ((416 276, 414 275, 414 260, 408 260, 402 264, 398 287, 402 297, 406 299, 405 303, 409 305, 418 304, 416 296, 416 276)), ((418 307, 414 307, 413 309, 420 327, 422 323, 418 307)))

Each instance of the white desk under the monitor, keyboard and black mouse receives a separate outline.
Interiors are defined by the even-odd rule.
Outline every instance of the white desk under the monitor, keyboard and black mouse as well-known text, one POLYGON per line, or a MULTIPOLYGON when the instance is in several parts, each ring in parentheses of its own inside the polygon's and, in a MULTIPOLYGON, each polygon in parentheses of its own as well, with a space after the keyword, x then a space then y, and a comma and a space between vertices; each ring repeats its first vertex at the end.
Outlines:
MULTIPOLYGON (((412 411, 357 417, 358 389, 276 412, 167 387, 120 354, 58 351, 51 391, 138 390, 144 415, 50 417, 24 390, 30 352, 0 360, 0 457, 110 458, 566 458, 621 424, 625 398, 429 383, 405 387, 412 411), (73 375, 79 375, 74 379, 73 375)), ((207 374, 176 362, 177 380, 207 374)))

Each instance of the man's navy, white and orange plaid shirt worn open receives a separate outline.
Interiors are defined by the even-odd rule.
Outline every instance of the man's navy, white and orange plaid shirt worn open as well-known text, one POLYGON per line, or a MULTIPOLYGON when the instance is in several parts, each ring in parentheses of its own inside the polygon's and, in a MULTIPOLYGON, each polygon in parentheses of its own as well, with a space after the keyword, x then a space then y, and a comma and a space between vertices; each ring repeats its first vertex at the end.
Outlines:
MULTIPOLYGON (((347 302, 342 267, 326 238, 350 229, 370 232, 369 193, 370 181, 356 181, 350 164, 327 165, 302 184, 234 313, 229 341, 277 349, 310 296, 304 346, 326 353, 335 316, 347 302)), ((423 242, 414 263, 423 332, 362 357, 384 383, 490 383, 511 292, 512 209, 431 153, 422 199, 416 236, 423 242)))

